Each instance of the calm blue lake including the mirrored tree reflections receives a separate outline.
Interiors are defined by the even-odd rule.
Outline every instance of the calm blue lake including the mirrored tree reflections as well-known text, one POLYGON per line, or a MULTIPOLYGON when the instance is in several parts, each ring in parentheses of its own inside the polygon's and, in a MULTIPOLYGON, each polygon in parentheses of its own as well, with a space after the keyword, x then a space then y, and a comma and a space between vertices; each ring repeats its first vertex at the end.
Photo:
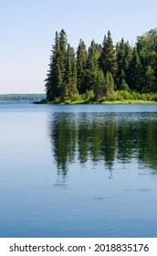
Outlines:
POLYGON ((157 105, 0 103, 0 237, 157 237, 157 105))

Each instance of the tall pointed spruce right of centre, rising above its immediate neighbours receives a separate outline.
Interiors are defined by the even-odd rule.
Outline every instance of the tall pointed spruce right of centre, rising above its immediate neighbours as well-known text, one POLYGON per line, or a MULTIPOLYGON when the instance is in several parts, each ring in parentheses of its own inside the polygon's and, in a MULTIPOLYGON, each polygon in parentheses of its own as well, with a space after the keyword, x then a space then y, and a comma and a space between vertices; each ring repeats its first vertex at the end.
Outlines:
POLYGON ((100 68, 103 70, 104 76, 109 71, 115 78, 117 71, 117 62, 115 57, 115 50, 113 47, 110 31, 108 31, 108 37, 104 37, 101 55, 99 58, 100 68))

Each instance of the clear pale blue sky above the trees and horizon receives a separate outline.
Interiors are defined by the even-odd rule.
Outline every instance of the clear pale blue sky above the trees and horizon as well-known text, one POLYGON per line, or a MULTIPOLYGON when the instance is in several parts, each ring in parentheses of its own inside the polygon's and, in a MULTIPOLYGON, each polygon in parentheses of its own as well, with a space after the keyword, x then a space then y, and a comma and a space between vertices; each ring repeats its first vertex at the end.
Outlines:
POLYGON ((87 47, 102 43, 108 30, 114 44, 157 27, 157 0, 0 0, 0 93, 44 92, 55 32, 87 47))

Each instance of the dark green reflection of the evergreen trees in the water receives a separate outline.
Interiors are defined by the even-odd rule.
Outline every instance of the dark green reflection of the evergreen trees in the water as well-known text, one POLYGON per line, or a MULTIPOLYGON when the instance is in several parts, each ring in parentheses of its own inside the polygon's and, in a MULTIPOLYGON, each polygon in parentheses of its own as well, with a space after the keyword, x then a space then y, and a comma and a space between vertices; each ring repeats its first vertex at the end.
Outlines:
POLYGON ((64 175, 68 164, 78 158, 104 161, 112 168, 114 161, 141 163, 157 169, 157 120, 138 113, 56 113, 50 128, 53 154, 64 175))

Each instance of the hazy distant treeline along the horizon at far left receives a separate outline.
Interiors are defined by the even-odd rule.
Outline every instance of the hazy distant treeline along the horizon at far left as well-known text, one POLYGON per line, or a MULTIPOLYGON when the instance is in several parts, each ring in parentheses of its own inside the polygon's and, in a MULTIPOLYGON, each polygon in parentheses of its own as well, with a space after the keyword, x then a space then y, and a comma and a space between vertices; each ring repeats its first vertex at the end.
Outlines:
POLYGON ((33 93, 33 94, 0 94, 0 102, 12 102, 12 101, 42 101, 46 99, 46 94, 44 93, 33 93))

